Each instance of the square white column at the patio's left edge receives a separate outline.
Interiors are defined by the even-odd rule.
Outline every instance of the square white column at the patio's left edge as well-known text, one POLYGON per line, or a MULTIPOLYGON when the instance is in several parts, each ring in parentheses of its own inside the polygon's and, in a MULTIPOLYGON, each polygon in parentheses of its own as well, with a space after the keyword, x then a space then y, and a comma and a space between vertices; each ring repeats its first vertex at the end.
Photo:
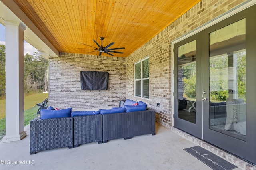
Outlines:
POLYGON ((24 30, 20 22, 6 24, 6 136, 3 142, 21 140, 24 131, 24 30))

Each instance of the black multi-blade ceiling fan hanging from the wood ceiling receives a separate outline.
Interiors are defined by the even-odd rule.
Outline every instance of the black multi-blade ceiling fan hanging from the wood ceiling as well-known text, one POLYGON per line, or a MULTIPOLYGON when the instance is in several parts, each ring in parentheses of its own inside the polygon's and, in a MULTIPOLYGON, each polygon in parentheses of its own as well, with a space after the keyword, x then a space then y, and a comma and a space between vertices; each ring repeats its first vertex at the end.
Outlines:
MULTIPOLYGON (((99 51, 99 52, 100 52, 99 56, 101 55, 101 53, 106 53, 106 54, 111 55, 111 56, 114 56, 114 55, 111 54, 111 53, 120 53, 120 54, 123 53, 123 52, 113 51, 113 50, 125 49, 124 47, 120 47, 120 48, 109 48, 111 45, 114 44, 114 42, 108 44, 106 47, 103 47, 103 45, 102 45, 102 40, 103 40, 103 39, 104 39, 104 37, 100 37, 101 45, 99 45, 95 40, 93 40, 99 48, 93 47, 93 48, 94 48, 94 49, 93 49, 94 51, 91 51, 91 52, 89 52, 89 53, 93 53, 93 52, 95 52, 95 51, 99 51)), ((84 44, 84 43, 81 43, 81 44, 86 45, 86 44, 84 44)), ((92 46, 90 46, 90 45, 87 45, 87 46, 92 47, 92 46)))

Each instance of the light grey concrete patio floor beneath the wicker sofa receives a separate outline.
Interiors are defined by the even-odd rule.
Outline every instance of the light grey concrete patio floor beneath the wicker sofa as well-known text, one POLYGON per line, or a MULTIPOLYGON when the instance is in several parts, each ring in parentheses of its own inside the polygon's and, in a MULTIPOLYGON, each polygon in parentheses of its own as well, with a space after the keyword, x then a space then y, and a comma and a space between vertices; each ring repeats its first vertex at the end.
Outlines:
MULTIPOLYGON (((200 160, 184 151, 197 146, 185 133, 156 123, 156 135, 136 136, 129 140, 116 139, 104 144, 82 144, 77 148, 44 150, 30 155, 29 125, 21 141, 0 142, 0 169, 68 169, 68 170, 210 170, 200 160), (16 161, 16 162, 15 162, 16 161), (24 163, 24 164, 23 164, 24 163)), ((199 142, 198 139, 192 140, 199 142)), ((206 144, 207 145, 207 144, 206 144)), ((208 146, 208 145, 207 145, 208 146)), ((210 146, 211 148, 213 146, 210 146)), ((214 148, 214 147, 213 147, 214 148)), ((232 157, 232 156, 231 156, 232 157)), ((238 161, 248 164, 242 160, 238 161)), ((237 165, 236 165, 237 166, 237 165)), ((246 166, 246 169, 255 167, 246 166)), ((236 168, 236 170, 245 168, 236 168)))

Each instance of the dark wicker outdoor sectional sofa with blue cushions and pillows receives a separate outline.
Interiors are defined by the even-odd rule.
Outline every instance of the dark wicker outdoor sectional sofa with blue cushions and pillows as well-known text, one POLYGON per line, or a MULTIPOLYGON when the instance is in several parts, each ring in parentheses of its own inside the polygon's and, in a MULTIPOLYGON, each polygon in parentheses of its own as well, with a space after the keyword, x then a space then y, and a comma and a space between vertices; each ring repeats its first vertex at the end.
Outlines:
POLYGON ((126 99, 122 107, 98 111, 42 109, 41 115, 30 121, 30 154, 90 142, 155 135, 155 111, 147 109, 146 103, 141 101, 137 105, 132 103, 137 102, 126 99))

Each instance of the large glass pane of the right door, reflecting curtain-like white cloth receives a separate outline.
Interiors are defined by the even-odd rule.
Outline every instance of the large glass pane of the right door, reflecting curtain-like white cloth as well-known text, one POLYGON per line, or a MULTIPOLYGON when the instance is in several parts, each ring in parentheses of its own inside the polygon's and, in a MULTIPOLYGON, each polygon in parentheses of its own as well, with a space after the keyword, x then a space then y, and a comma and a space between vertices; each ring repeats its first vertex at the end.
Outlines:
POLYGON ((245 19, 209 40, 210 129, 246 141, 245 19))

